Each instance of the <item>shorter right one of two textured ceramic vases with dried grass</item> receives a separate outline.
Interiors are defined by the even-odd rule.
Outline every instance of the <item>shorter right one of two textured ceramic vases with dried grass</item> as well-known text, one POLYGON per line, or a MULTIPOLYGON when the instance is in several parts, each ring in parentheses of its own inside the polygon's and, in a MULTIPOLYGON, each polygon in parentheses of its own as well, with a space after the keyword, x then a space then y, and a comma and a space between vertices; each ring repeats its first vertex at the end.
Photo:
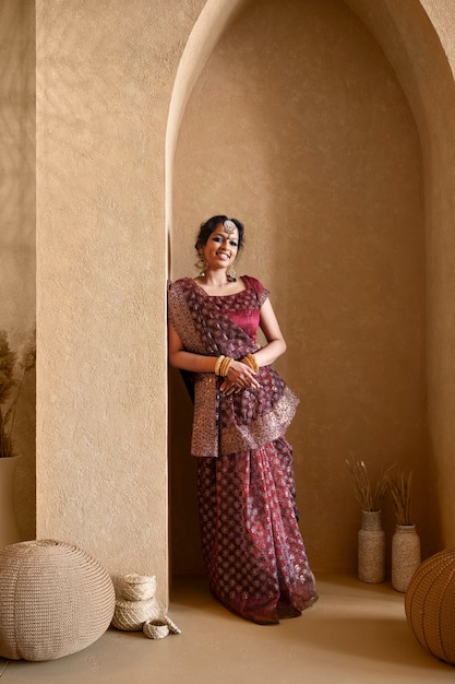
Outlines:
POLYGON ((405 592, 420 565, 420 538, 415 524, 397 524, 392 538, 392 587, 405 592))

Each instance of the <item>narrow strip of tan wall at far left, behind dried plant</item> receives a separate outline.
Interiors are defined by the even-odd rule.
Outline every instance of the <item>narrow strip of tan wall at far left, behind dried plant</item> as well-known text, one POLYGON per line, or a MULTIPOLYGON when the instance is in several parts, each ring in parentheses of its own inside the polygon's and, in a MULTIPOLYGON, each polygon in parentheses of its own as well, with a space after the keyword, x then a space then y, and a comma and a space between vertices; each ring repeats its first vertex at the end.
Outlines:
MULTIPOLYGON (((35 320, 35 4, 0 3, 0 329, 17 352, 35 320)), ((35 536, 35 373, 17 404, 15 500, 24 539, 35 536)), ((1 522, 0 522, 1 523, 1 522)))

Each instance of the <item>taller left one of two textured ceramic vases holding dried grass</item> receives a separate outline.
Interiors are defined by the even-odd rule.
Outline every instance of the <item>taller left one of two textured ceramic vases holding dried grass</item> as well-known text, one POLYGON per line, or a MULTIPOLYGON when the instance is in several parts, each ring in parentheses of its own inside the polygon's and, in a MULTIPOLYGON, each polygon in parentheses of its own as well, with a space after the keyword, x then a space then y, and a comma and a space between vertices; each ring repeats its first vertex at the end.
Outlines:
POLYGON ((362 510, 358 532, 358 577, 376 585, 385 579, 385 534, 381 510, 362 510))

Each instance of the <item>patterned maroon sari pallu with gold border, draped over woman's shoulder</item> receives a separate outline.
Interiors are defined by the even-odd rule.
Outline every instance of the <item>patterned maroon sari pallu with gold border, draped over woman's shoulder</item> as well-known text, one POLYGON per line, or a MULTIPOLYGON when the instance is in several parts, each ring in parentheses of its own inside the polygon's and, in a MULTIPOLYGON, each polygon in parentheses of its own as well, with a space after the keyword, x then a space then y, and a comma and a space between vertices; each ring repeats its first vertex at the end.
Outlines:
MULTIPOLYGON (((255 297, 259 309, 267 291, 258 295, 251 287, 253 279, 243 276, 243 280, 247 296, 255 297)), ((207 295, 191 278, 170 285, 168 307, 169 322, 189 352, 215 357, 224 354, 240 361, 260 349, 227 315, 226 297, 207 295)), ((191 452, 197 457, 238 453, 282 437, 299 402, 272 366, 259 369, 255 376, 261 385, 259 389, 229 396, 219 391, 223 378, 213 373, 191 376, 194 385, 191 452)))

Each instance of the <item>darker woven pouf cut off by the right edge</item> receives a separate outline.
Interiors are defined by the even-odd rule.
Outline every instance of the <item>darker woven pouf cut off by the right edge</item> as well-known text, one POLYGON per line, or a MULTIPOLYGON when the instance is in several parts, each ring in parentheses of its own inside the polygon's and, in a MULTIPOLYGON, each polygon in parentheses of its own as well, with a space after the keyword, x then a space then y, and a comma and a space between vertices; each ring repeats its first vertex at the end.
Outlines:
POLYGON ((419 565, 405 594, 405 610, 419 644, 455 664, 455 549, 419 565))

